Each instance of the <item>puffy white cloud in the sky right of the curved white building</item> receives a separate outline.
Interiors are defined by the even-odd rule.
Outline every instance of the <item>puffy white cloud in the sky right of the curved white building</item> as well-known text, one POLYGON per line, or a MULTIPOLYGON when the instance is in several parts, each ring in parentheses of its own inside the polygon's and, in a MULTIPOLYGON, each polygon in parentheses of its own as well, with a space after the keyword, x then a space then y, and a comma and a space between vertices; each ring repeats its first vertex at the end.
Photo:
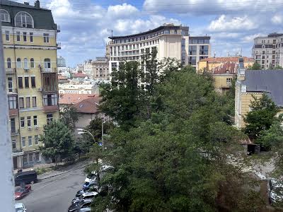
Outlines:
POLYGON ((208 27, 212 32, 251 30, 255 28, 257 28, 257 24, 253 23, 248 16, 227 18, 225 15, 221 15, 218 19, 212 20, 208 27))

